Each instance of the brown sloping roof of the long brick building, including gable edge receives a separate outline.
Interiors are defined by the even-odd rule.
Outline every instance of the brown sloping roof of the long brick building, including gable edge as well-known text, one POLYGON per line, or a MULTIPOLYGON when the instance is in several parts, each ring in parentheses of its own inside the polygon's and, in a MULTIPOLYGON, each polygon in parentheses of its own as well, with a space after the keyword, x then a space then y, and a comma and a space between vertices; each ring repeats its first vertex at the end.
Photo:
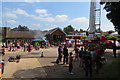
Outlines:
MULTIPOLYGON (((29 31, 13 31, 13 30, 7 30, 6 32, 6 38, 35 38, 35 39, 43 39, 46 34, 52 34, 56 30, 61 30, 60 28, 54 28, 49 31, 40 31, 40 30, 29 30, 29 31)), ((62 30, 61 30, 62 31, 62 30)), ((63 32, 63 31, 62 31, 63 32)), ((63 32, 65 35, 66 33, 63 32)))

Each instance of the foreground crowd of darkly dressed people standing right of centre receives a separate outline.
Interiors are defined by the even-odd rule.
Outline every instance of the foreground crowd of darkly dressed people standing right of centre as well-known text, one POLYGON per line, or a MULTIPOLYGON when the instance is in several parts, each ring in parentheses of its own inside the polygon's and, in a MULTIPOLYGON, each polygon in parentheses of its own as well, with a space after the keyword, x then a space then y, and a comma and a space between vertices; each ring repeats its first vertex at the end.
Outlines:
POLYGON ((98 46, 92 47, 91 50, 87 50, 84 47, 81 47, 81 49, 75 47, 70 53, 68 53, 67 46, 59 46, 58 60, 59 62, 62 62, 63 57, 63 64, 69 64, 69 74, 73 74, 73 61, 77 61, 79 67, 85 70, 85 75, 88 76, 88 74, 90 74, 92 77, 93 71, 99 73, 99 70, 102 67, 101 57, 103 56, 103 53, 104 52, 100 50, 98 46), (75 54, 73 54, 73 51, 75 51, 75 54))

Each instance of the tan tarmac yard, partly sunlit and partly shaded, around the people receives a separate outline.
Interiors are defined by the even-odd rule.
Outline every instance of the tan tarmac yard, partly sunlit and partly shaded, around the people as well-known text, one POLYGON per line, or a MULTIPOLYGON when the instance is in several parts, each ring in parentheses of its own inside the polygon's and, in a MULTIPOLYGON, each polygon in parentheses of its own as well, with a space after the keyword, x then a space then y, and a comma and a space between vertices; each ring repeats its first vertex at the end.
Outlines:
MULTIPOLYGON (((86 78, 84 69, 79 67, 79 61, 73 62, 73 75, 68 73, 68 64, 63 65, 63 62, 55 63, 58 56, 57 48, 52 47, 40 49, 39 51, 32 50, 32 52, 24 52, 22 48, 15 52, 6 50, 3 56, 5 68, 2 78, 86 78), (42 52, 44 57, 41 57, 42 52), (8 62, 10 56, 16 55, 21 55, 19 63, 8 62)), ((72 50, 73 48, 68 48, 69 52, 72 50)), ((120 53, 119 50, 117 50, 118 53, 120 53)), ((107 59, 107 63, 103 65, 103 68, 114 59, 111 49, 107 49, 104 56, 107 59)), ((93 77, 95 77, 101 73, 93 74, 93 77)))

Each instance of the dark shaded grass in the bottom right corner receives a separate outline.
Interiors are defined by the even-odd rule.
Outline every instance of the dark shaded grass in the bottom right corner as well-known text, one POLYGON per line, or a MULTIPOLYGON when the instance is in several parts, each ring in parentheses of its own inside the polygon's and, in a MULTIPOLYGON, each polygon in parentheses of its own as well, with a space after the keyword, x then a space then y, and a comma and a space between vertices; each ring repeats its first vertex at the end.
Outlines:
POLYGON ((114 59, 110 65, 105 66, 97 77, 120 78, 120 56, 114 59))

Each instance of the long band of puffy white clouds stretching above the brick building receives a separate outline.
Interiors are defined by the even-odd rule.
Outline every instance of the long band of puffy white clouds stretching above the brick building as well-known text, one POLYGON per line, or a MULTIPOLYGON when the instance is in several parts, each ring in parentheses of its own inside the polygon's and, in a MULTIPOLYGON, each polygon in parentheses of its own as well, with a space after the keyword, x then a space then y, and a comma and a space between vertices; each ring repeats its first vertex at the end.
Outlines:
POLYGON ((38 19, 41 21, 46 21, 46 22, 54 22, 54 21, 65 22, 68 18, 67 15, 56 15, 56 17, 50 17, 49 15, 51 14, 47 14, 47 10, 45 9, 36 9, 35 12, 38 13, 39 16, 28 14, 25 10, 22 10, 20 8, 13 10, 13 13, 25 15, 27 17, 31 17, 31 18, 38 19))

